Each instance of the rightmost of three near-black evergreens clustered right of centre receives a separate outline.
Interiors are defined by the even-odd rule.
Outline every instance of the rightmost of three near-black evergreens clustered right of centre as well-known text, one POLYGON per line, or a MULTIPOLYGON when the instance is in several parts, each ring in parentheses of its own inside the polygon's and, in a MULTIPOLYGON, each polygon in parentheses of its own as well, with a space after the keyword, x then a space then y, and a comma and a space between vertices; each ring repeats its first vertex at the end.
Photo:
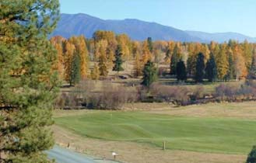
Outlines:
POLYGON ((216 61, 213 54, 210 54, 209 61, 206 63, 205 77, 208 78, 209 82, 213 82, 217 78, 216 61))

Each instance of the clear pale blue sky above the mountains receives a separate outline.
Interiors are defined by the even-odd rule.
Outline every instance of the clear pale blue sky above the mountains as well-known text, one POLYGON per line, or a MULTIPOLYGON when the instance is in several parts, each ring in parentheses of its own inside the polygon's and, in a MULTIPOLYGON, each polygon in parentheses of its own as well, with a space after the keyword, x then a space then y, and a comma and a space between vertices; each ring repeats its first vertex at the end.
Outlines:
POLYGON ((256 37, 256 0, 60 0, 61 13, 141 19, 177 29, 256 37))

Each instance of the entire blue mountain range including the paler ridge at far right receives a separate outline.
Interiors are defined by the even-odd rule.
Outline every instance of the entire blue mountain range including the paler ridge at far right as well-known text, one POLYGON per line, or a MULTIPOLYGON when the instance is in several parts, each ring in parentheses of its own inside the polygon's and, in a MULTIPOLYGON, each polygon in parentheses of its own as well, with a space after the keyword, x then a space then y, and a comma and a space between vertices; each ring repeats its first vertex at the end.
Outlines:
POLYGON ((208 43, 211 40, 224 42, 230 39, 256 42, 256 38, 239 33, 202 33, 184 31, 158 23, 149 23, 139 19, 104 20, 86 14, 61 14, 57 28, 51 36, 69 38, 73 35, 84 35, 91 38, 96 30, 110 30, 114 33, 126 33, 132 40, 146 40, 151 36, 153 40, 174 40, 182 42, 208 43), (236 34, 236 35, 235 35, 236 34))

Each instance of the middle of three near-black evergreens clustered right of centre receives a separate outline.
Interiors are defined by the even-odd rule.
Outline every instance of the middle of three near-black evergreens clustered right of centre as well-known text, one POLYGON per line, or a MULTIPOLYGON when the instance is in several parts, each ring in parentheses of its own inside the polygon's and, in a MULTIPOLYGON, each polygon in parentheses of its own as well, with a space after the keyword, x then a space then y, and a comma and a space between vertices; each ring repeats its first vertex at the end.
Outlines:
POLYGON ((205 75, 205 56, 202 53, 198 54, 195 68, 195 82, 203 82, 205 75))

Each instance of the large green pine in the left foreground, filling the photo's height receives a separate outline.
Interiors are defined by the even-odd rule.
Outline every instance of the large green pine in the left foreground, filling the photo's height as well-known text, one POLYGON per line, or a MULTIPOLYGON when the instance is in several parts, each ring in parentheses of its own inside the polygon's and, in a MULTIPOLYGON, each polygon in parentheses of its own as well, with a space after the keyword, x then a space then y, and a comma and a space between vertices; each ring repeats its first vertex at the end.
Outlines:
POLYGON ((47 40, 59 16, 57 0, 0 1, 0 162, 51 162, 50 130, 58 72, 47 40))

